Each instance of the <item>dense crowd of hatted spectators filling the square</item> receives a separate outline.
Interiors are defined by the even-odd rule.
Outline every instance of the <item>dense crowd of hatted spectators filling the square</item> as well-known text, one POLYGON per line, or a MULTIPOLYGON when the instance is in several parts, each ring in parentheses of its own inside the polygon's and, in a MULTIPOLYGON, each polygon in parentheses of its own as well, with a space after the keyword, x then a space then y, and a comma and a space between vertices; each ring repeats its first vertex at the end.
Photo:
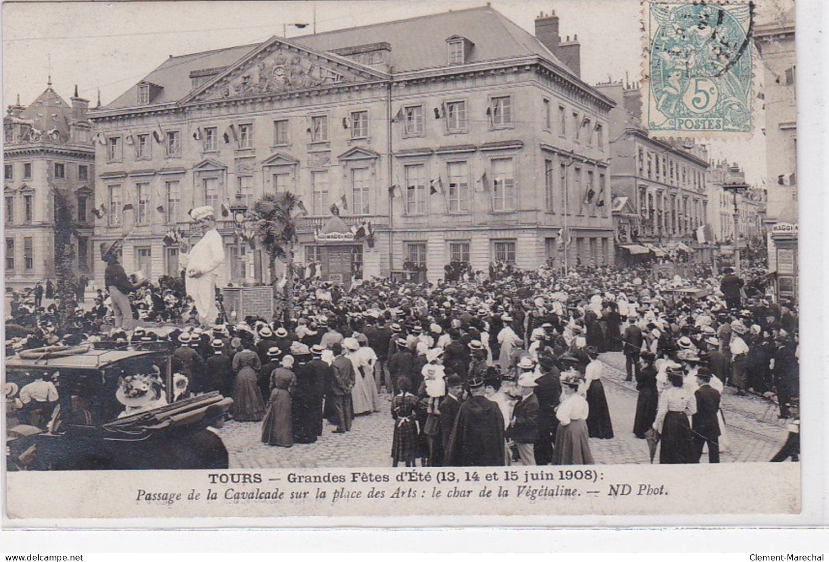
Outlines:
POLYGON ((51 308, 18 303, 7 354, 167 342, 187 381, 181 396, 232 397, 235 422, 261 424, 262 442, 274 446, 314 443, 326 419, 345 434, 355 416, 377 415, 390 400, 395 466, 592 463, 590 439, 620 430, 658 440, 662 463, 699 462, 705 448, 717 462, 726 387, 776 400, 779 415, 797 421, 797 308, 758 290, 760 269, 742 279, 686 270, 655 279, 646 266, 566 276, 510 266, 489 279, 372 279, 351 290, 297 279, 290 319, 220 314, 211 328, 199 326, 176 279, 131 280, 132 322, 122 317, 120 327, 111 294, 79 308, 62 332, 51 308), (622 351, 636 381, 626 419, 611 419, 605 351, 622 351))

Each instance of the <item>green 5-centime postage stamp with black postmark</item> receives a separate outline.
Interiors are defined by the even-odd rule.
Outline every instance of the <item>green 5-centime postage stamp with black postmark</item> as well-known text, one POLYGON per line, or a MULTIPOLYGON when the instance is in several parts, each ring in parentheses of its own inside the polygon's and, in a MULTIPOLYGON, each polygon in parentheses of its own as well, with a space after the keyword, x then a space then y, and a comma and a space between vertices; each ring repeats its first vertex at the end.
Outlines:
POLYGON ((645 3, 651 131, 750 132, 753 16, 750 2, 645 3))

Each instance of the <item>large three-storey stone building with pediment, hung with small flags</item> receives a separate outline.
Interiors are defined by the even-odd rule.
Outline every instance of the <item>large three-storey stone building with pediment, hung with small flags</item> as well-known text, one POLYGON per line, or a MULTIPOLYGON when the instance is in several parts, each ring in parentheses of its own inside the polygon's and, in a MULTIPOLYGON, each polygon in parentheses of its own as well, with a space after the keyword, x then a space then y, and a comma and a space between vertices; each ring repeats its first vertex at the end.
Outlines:
MULTIPOLYGON (((579 64, 555 14, 533 36, 492 7, 173 56, 94 112, 95 235, 126 236, 126 269, 155 279, 177 272, 164 239, 188 209, 288 190, 308 211, 298 262, 342 246, 326 268, 366 278, 562 264, 565 240, 570 264, 611 263, 613 101, 579 64), (333 205, 371 243, 321 236, 333 205)), ((267 281, 249 229, 220 217, 232 283, 267 281)))

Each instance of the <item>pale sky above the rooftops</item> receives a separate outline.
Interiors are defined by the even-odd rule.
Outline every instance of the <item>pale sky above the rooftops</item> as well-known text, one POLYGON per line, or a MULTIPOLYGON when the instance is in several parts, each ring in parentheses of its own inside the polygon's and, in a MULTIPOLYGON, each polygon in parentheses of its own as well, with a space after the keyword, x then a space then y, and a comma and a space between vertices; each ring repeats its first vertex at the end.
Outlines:
MULTIPOLYGON (((4 2, 2 4, 2 100, 20 94, 28 104, 52 87, 68 99, 74 85, 95 104, 109 103, 160 65, 169 55, 208 51, 264 41, 283 33, 308 34, 316 13, 317 31, 482 6, 479 0, 328 2, 4 2), (303 30, 291 23, 308 23, 303 30)), ((493 0, 492 7, 528 31, 539 12, 555 9, 560 34, 578 35, 582 79, 590 84, 638 80, 642 7, 638 0, 493 0)), ((758 19, 783 12, 792 0, 759 3, 758 19), (764 3, 777 6, 765 8, 764 3)), ((755 52, 756 56, 756 52, 755 52)), ((755 128, 762 111, 755 108, 755 128)), ((749 182, 765 170, 762 135, 747 143, 714 143, 714 157, 746 168, 749 182)))

